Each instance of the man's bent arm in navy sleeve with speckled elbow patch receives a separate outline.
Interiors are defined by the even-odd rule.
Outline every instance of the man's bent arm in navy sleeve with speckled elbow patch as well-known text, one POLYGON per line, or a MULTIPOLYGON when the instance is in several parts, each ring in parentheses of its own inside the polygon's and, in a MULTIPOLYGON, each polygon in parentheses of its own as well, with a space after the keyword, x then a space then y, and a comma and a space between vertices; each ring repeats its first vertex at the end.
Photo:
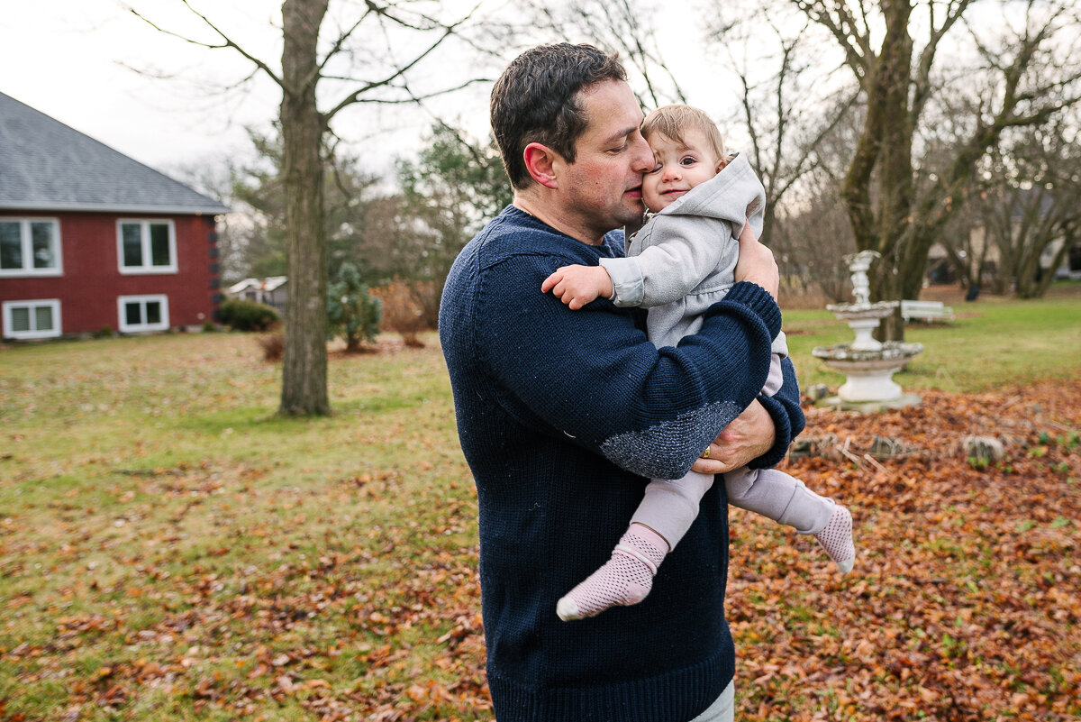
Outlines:
POLYGON ((779 309, 761 288, 737 283, 707 310, 698 334, 657 349, 611 303, 571 311, 550 295, 522 293, 564 264, 517 255, 484 271, 477 343, 511 395, 501 403, 538 432, 573 439, 635 473, 682 477, 760 392, 779 309))

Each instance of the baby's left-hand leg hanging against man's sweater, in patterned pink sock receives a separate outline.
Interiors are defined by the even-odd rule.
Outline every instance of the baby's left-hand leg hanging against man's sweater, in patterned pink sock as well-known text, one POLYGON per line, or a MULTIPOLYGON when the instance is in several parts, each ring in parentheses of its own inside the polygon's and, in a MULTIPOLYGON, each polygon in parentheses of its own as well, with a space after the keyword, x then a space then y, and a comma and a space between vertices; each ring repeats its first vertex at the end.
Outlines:
POLYGON ((560 619, 591 617, 645 599, 657 566, 691 527, 712 483, 712 476, 694 471, 682 479, 651 481, 612 558, 557 603, 560 619))

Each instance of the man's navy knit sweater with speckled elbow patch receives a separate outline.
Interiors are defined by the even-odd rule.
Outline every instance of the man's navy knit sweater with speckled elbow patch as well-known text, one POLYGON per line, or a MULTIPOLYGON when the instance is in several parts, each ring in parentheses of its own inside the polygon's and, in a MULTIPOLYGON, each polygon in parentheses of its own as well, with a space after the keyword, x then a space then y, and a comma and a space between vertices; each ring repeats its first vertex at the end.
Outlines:
MULTIPOLYGON (((737 283, 678 348, 643 311, 599 299, 572 311, 542 281, 623 255, 623 236, 576 241, 513 206, 458 256, 439 331, 462 450, 480 507, 488 678, 499 722, 685 722, 732 679, 724 620, 724 484, 702 500, 641 604, 578 621, 556 601, 602 564, 649 477, 682 477, 756 397, 780 311, 737 283)), ((803 427, 790 363, 773 398, 776 464, 803 427)))

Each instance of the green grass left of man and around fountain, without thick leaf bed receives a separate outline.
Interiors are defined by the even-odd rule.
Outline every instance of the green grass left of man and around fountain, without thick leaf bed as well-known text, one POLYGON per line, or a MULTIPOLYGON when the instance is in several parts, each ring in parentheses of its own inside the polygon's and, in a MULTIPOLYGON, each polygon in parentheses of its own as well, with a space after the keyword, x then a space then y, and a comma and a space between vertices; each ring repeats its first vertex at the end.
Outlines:
MULTIPOLYGON (((911 327, 906 389, 1081 375, 1081 302, 973 308, 911 327)), ((810 349, 848 326, 785 324, 801 384, 840 383, 810 349)), ((0 347, 0 720, 491 719, 476 493, 425 340, 334 358, 315 419, 276 416, 250 335, 0 347)))

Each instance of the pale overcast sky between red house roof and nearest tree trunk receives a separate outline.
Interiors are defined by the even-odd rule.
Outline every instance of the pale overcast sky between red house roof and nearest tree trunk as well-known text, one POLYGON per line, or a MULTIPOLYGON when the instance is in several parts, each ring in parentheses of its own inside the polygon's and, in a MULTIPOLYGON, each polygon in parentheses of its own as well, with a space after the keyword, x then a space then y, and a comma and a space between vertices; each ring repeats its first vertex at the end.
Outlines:
MULTIPOLYGON (((246 149, 245 124, 265 125, 277 96, 254 92, 211 96, 198 82, 240 77, 227 51, 210 52, 157 32, 116 0, 4 0, 0 13, 0 92, 156 168, 198 162, 246 149), (123 64, 178 77, 155 80, 123 64)), ((172 0, 152 0, 162 22, 172 0)), ((218 0, 221 5, 233 4, 218 0)), ((244 0, 272 12, 280 2, 244 0)), ((186 11, 185 11, 186 12, 186 11)), ((261 18, 263 27, 267 24, 261 18)), ((255 22, 251 24, 257 26, 255 22)), ((255 37, 255 34, 252 34, 255 37)), ((266 50, 266 45, 259 48, 266 50)))

